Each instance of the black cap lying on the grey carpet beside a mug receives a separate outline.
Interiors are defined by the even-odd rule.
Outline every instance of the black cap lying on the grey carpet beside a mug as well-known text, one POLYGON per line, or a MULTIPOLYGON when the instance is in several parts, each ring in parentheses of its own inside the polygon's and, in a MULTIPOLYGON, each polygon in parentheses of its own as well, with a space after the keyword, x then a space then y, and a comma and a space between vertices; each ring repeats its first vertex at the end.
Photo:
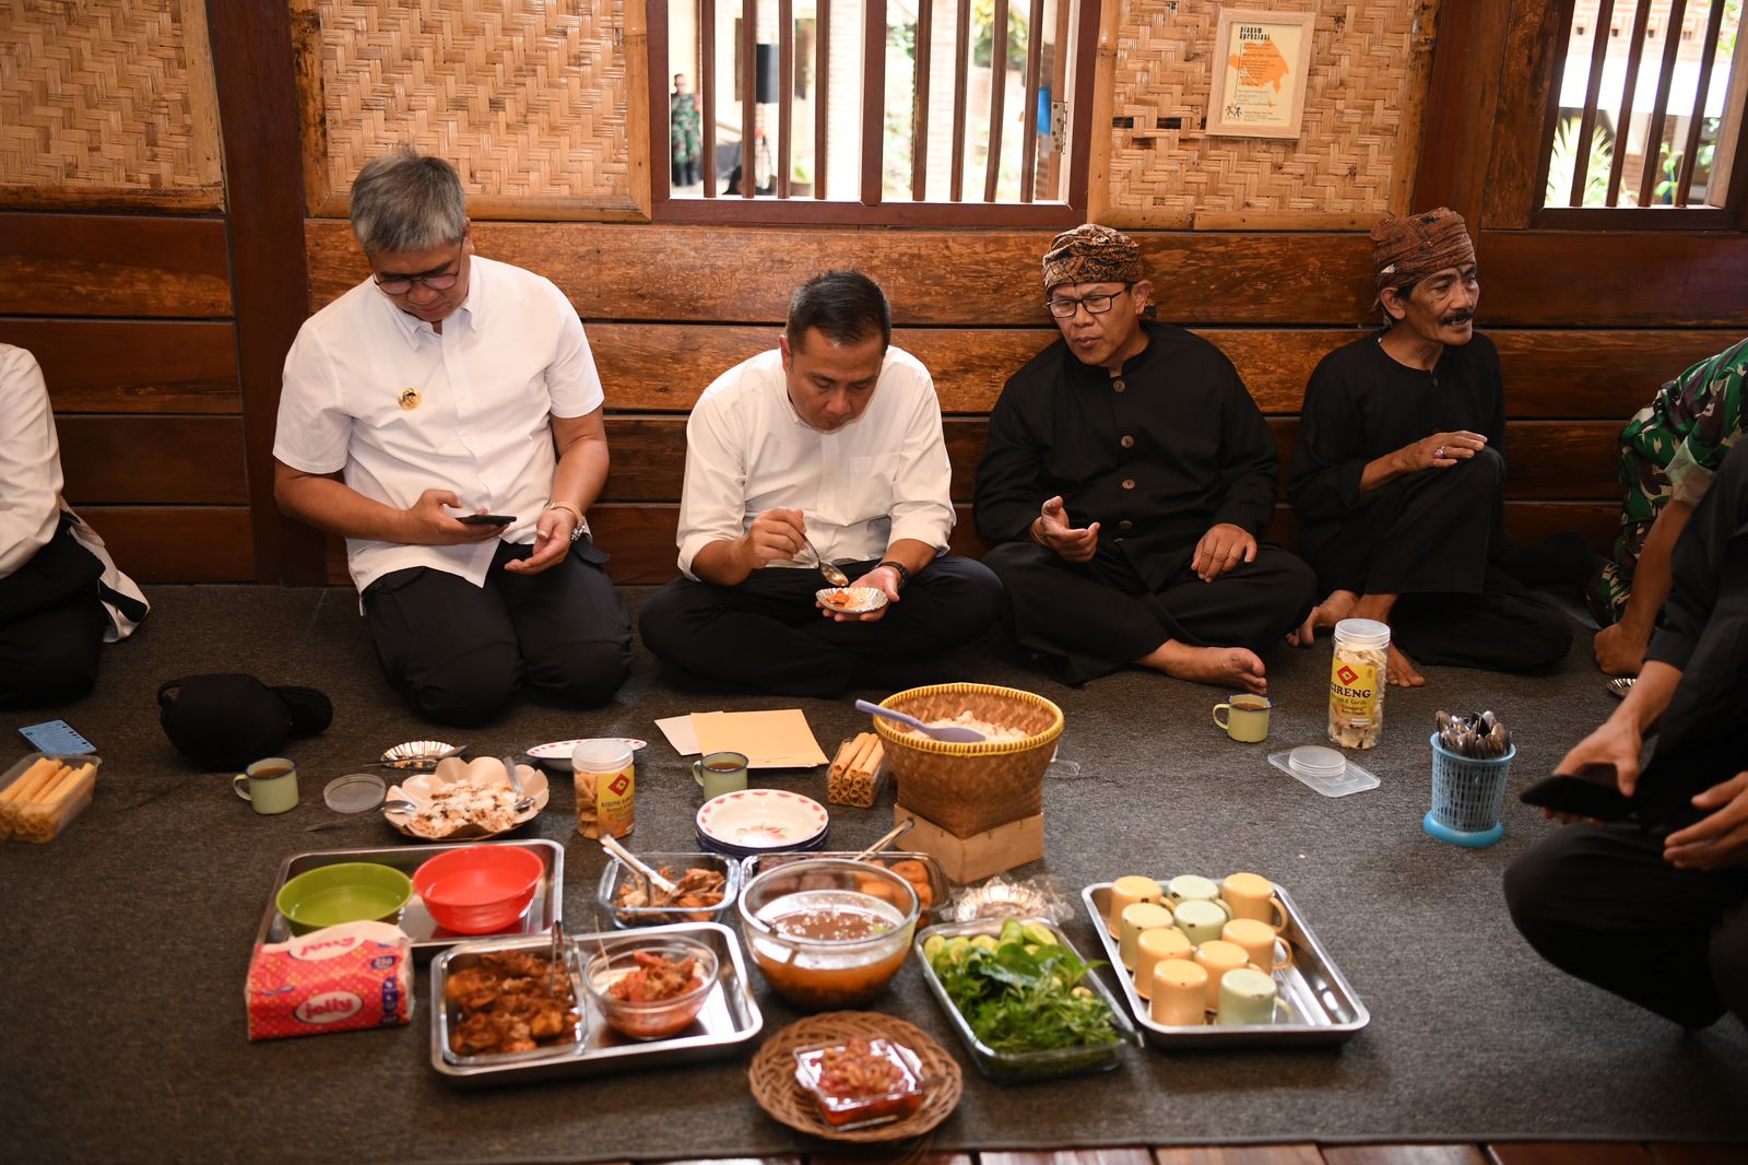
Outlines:
POLYGON ((184 675, 157 689, 170 743, 208 770, 241 768, 276 756, 290 736, 334 722, 334 705, 315 687, 269 687, 253 675, 184 675))

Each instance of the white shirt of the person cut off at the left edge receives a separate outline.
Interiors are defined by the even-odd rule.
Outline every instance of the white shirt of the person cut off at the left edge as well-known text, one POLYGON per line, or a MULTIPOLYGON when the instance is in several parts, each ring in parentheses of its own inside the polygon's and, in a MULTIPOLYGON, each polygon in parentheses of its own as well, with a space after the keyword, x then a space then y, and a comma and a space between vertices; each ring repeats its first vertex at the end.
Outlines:
MULTIPOLYGON (((24 348, 0 345, 0 579, 7 577, 54 539, 61 514, 73 520, 72 534, 103 563, 103 586, 145 603, 133 579, 115 567, 103 539, 61 497, 61 443, 42 369, 24 348)), ((110 624, 103 642, 114 644, 138 626, 107 598, 110 624)))

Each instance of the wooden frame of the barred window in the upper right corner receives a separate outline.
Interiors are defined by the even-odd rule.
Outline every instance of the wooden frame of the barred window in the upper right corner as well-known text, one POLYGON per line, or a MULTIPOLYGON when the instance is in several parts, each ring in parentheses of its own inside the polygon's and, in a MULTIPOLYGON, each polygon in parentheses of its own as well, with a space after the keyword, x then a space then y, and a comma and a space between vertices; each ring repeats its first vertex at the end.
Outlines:
MULTIPOLYGON (((1624 0, 1638 7, 1634 0, 1624 0)), ((1720 0, 1722 2, 1722 0, 1720 0)), ((1559 91, 1566 52, 1571 47, 1571 19, 1577 0, 1552 0, 1554 19, 1557 21, 1554 37, 1554 58, 1549 73, 1547 105, 1536 138, 1536 182, 1531 189, 1535 199, 1530 212, 1530 226, 1552 231, 1741 231, 1748 229, 1748 115, 1738 119, 1736 145, 1731 156, 1731 184, 1724 194, 1722 206, 1543 206, 1547 194, 1547 171, 1552 161, 1554 129, 1559 124, 1559 91)), ((1634 26, 1636 30, 1636 26, 1634 26)), ((1598 37, 1601 30, 1598 30, 1598 37)), ((1631 33, 1629 33, 1631 35, 1631 33)), ((1741 52, 1738 45, 1738 52, 1741 52)), ((1731 82, 1748 87, 1748 68, 1741 59, 1732 59, 1731 82)), ((1725 89, 1729 93, 1729 89, 1725 89)), ((1704 94, 1697 94, 1699 101, 1704 94)), ((1666 112, 1668 115, 1668 112, 1666 112)), ((1587 115, 1585 126, 1591 124, 1587 115)), ((1589 140, 1589 138, 1582 138, 1589 140)))

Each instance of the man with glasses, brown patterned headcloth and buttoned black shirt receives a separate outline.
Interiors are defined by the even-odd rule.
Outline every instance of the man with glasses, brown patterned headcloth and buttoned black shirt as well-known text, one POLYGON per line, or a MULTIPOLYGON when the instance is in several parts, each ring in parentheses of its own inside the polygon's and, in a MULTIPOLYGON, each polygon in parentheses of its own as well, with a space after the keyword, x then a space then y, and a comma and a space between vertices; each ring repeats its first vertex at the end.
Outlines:
POLYGON ((1023 647, 1080 684, 1126 663, 1267 691, 1260 651, 1299 626, 1311 570, 1257 535, 1274 437, 1232 362, 1143 318, 1140 248, 1087 224, 1044 255, 1063 338, 1014 374, 977 467, 984 565, 1023 647))

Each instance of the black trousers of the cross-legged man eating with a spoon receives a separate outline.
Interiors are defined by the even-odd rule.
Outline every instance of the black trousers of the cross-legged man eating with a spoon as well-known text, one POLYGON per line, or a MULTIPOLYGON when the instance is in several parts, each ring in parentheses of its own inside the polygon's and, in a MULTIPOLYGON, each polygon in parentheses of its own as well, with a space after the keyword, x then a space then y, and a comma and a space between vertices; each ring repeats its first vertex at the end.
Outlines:
MULTIPOLYGON (((839 563, 851 579, 874 567, 839 563)), ((739 586, 675 579, 643 603, 643 645, 710 679, 783 696, 846 687, 944 682, 926 661, 968 644, 996 619, 1002 584, 972 560, 946 555, 919 570, 876 623, 837 623, 815 605, 816 570, 769 567, 739 586)))

